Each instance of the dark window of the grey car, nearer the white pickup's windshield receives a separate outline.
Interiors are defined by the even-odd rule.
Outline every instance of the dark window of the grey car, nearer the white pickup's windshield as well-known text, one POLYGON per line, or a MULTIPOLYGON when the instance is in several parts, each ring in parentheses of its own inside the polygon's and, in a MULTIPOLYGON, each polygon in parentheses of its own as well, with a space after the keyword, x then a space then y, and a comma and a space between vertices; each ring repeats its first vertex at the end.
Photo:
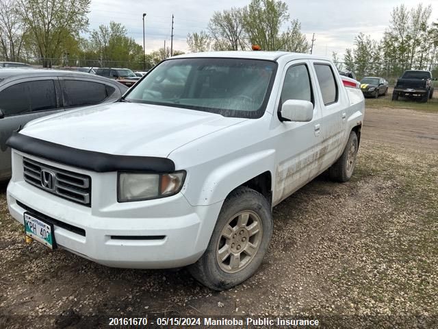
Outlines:
POLYGON ((66 108, 72 106, 86 106, 104 101, 107 98, 107 86, 105 84, 99 84, 99 82, 64 80, 62 93, 64 95, 64 106, 66 108))

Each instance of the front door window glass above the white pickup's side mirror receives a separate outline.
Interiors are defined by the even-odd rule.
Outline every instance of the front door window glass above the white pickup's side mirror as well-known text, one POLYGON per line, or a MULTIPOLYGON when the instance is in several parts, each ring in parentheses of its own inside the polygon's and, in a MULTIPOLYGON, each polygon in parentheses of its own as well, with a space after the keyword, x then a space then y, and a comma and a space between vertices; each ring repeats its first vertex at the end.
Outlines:
POLYGON ((288 99, 298 99, 313 103, 309 71, 305 64, 289 67, 281 90, 281 104, 288 99))

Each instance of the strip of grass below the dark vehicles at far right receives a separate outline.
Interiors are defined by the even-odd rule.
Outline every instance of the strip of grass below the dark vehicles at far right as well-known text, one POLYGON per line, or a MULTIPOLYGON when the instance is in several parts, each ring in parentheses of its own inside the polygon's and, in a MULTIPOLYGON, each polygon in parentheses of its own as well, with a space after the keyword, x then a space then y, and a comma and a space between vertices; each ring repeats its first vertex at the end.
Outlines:
POLYGON ((391 95, 378 99, 366 98, 367 108, 407 108, 409 110, 419 110, 426 112, 438 112, 438 99, 429 99, 427 103, 400 97, 398 101, 392 101, 391 95))

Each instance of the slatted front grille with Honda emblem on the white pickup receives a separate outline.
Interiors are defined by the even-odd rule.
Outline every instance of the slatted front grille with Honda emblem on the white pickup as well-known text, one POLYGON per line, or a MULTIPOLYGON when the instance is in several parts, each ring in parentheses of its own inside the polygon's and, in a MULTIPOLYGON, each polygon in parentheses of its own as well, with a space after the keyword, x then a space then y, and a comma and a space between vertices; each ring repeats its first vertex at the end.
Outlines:
POLYGON ((91 178, 23 158, 25 181, 78 204, 91 206, 91 178))

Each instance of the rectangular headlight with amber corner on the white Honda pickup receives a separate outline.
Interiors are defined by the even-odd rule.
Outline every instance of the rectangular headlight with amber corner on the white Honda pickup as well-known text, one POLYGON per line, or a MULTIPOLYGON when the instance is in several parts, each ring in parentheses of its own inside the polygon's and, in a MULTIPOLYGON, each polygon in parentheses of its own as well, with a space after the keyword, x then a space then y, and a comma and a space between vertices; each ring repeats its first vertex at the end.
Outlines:
POLYGON ((185 171, 175 173, 118 173, 118 202, 142 201, 175 195, 183 187, 185 171))

